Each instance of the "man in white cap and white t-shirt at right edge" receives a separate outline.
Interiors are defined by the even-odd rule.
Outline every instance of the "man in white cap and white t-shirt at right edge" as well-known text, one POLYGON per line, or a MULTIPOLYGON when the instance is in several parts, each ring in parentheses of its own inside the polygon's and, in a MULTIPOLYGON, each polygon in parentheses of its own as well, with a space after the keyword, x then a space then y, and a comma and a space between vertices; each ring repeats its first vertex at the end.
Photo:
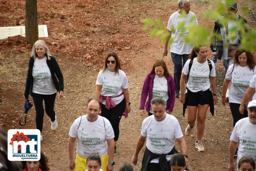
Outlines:
POLYGON ((237 162, 244 156, 252 157, 256 160, 256 100, 250 101, 247 106, 247 118, 236 122, 234 130, 230 136, 228 170, 234 171, 234 154, 238 146, 237 162))

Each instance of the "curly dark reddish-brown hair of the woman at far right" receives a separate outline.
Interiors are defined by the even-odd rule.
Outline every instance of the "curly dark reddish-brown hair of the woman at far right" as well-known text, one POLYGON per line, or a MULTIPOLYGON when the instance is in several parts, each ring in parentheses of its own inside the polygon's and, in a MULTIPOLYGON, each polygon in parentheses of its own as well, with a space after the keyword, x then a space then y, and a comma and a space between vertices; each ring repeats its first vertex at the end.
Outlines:
POLYGON ((245 53, 247 56, 247 65, 249 66, 250 70, 252 70, 255 65, 255 59, 253 57, 253 54, 251 52, 247 52, 245 50, 241 50, 241 49, 236 49, 235 52, 233 53, 233 64, 239 64, 239 60, 238 57, 239 55, 241 55, 242 53, 245 53))

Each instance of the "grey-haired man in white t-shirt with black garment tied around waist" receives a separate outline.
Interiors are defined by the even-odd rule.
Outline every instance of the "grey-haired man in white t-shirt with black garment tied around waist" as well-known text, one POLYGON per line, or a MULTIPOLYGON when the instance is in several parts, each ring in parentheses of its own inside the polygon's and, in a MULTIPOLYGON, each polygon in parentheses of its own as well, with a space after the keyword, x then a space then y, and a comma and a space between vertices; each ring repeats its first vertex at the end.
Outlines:
POLYGON ((187 147, 178 120, 165 113, 165 101, 162 98, 151 100, 153 115, 144 119, 141 134, 132 157, 132 163, 137 165, 138 154, 146 141, 140 171, 170 171, 170 159, 177 153, 175 139, 180 151, 188 164, 187 147))

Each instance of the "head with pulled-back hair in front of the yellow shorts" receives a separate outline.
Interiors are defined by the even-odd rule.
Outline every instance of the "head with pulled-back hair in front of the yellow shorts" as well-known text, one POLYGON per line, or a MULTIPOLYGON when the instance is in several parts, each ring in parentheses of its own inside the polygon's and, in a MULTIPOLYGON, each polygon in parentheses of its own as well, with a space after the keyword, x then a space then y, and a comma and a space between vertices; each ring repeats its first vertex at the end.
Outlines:
POLYGON ((86 167, 88 171, 99 171, 101 159, 99 153, 91 153, 86 159, 86 167))

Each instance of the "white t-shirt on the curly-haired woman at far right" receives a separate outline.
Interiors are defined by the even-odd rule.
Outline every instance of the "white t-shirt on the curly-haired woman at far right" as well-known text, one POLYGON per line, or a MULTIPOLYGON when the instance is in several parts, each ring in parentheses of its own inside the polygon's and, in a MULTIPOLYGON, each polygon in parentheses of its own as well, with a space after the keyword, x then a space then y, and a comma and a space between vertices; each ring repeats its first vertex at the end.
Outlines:
POLYGON ((228 67, 226 74, 226 79, 231 80, 232 83, 230 86, 229 101, 231 103, 241 104, 244 93, 249 87, 250 79, 256 74, 256 70, 250 70, 248 66, 241 67, 239 64, 236 64, 233 70, 233 66, 234 64, 231 64, 228 67))

